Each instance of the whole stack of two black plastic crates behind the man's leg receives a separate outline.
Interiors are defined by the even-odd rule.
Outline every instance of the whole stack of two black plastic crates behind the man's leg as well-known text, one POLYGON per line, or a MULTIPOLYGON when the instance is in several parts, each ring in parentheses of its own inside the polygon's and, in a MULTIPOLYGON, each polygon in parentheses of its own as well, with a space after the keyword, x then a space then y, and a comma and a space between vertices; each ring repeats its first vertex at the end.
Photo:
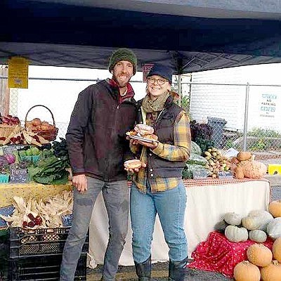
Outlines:
MULTIPOLYGON (((70 228, 11 228, 8 280, 59 280, 63 247, 70 228)), ((83 245, 74 280, 86 280, 89 235, 83 245)))

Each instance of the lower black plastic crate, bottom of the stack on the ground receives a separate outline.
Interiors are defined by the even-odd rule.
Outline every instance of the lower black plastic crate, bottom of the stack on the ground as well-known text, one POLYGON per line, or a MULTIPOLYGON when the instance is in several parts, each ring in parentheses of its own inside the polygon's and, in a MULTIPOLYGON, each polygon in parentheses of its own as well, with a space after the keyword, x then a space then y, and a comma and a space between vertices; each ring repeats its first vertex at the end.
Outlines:
MULTIPOLYGON (((11 259, 9 260, 8 280, 59 280, 62 259, 62 254, 11 259)), ((74 280, 86 280, 86 261, 87 254, 81 254, 77 263, 74 280)))

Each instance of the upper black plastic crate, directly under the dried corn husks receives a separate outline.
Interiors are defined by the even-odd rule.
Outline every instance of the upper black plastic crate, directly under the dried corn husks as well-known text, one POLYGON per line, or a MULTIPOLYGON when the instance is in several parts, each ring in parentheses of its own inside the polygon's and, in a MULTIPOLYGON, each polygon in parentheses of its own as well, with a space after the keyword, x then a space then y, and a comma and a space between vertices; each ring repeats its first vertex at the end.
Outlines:
MULTIPOLYGON (((70 228, 10 228, 9 258, 62 254, 70 228)), ((89 250, 89 233, 82 254, 89 250)))

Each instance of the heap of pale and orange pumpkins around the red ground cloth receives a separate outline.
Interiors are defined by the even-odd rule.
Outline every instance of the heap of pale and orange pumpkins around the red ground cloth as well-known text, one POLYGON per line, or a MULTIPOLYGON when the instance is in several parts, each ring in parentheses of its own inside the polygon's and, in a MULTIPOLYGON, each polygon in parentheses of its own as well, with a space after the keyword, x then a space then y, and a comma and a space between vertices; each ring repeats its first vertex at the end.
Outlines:
POLYGON ((247 261, 235 266, 236 281, 281 281, 281 200, 270 202, 268 211, 253 210, 245 217, 226 213, 215 228, 231 242, 256 242, 247 249, 247 261), (261 244, 268 236, 274 240, 272 250, 261 244))

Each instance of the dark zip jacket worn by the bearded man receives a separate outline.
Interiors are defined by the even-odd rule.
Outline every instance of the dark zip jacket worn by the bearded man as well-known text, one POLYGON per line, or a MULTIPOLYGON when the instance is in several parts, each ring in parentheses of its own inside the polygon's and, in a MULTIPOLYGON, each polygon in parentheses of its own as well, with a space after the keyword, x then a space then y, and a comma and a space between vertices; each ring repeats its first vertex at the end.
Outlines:
MULTIPOLYGON (((131 85, 128 89, 126 96, 133 96, 131 85)), ((126 131, 133 129, 136 112, 136 100, 120 103, 118 88, 107 80, 81 91, 66 134, 72 173, 125 180, 124 161, 133 158, 126 131)))

